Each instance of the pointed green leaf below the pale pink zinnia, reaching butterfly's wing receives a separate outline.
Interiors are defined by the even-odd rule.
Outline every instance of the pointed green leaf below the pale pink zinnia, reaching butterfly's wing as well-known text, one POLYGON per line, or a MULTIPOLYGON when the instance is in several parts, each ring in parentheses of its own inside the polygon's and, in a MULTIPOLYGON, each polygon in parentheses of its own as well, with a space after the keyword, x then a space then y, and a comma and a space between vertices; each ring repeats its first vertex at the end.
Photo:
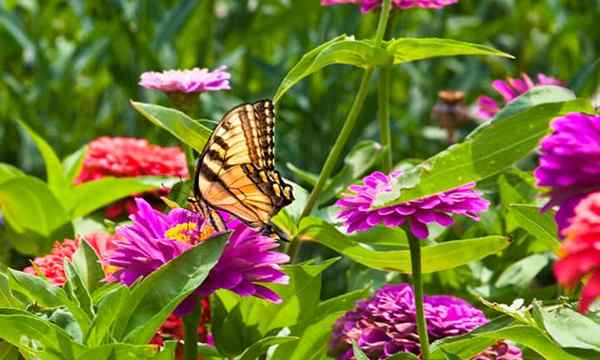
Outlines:
POLYGON ((154 125, 170 132, 183 143, 202 152, 212 131, 181 111, 132 101, 131 105, 154 125))

